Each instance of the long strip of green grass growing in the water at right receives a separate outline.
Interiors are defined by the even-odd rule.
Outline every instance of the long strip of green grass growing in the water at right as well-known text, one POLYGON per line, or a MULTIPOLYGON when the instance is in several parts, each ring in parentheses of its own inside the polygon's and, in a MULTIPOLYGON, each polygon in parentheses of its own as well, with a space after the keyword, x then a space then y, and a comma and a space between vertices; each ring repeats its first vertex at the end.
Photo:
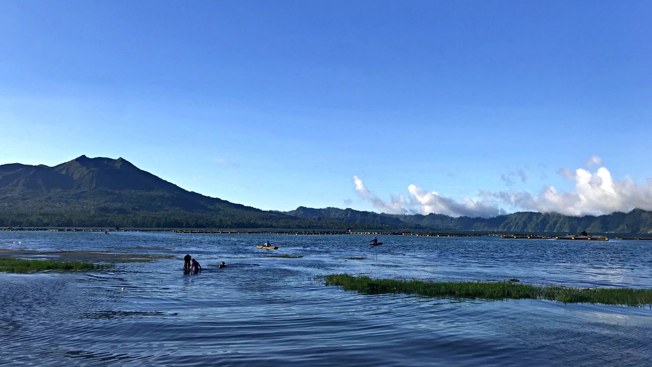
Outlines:
POLYGON ((326 286, 366 294, 403 293, 426 297, 467 299, 546 299, 564 303, 600 303, 627 306, 651 306, 652 289, 573 288, 533 286, 511 282, 427 282, 422 280, 372 279, 368 276, 331 274, 326 286))

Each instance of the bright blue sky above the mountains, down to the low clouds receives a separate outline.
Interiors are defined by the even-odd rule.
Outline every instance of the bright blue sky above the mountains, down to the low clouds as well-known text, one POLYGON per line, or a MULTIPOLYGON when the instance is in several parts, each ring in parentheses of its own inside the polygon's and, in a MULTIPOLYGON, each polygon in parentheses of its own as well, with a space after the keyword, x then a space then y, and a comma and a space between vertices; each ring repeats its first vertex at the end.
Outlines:
POLYGON ((648 1, 3 1, 0 164, 122 156, 261 209, 652 208, 651 12, 648 1))

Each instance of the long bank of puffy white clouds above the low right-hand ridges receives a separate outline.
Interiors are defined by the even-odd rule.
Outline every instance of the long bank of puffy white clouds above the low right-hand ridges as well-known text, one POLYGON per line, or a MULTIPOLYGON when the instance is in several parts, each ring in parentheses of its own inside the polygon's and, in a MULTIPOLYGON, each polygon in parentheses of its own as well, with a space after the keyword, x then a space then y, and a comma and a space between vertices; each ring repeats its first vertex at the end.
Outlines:
POLYGON ((579 168, 575 171, 557 171, 574 182, 571 190, 545 186, 539 193, 508 190, 489 192, 480 190, 476 198, 453 199, 436 191, 422 190, 415 184, 408 186, 409 196, 392 195, 389 201, 378 198, 368 190, 361 179, 353 177, 357 194, 385 213, 438 213, 451 216, 481 216, 484 218, 512 211, 539 211, 571 216, 600 215, 629 212, 632 209, 652 211, 652 179, 644 184, 629 177, 614 179, 606 167, 596 171, 579 168))

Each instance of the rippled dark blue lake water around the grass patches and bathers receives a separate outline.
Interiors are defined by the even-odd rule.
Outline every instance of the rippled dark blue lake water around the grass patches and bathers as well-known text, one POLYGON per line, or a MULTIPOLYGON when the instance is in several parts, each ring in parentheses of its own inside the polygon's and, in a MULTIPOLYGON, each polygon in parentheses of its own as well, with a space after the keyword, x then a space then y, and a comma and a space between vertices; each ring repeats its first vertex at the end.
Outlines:
POLYGON ((651 287, 652 241, 368 240, 0 232, 0 248, 179 257, 102 272, 0 274, 0 365, 650 365, 649 308, 369 296, 314 276, 651 287), (283 247, 255 248, 267 239, 283 247), (181 272, 186 252, 201 274, 181 272), (218 270, 222 260, 228 268, 218 270))

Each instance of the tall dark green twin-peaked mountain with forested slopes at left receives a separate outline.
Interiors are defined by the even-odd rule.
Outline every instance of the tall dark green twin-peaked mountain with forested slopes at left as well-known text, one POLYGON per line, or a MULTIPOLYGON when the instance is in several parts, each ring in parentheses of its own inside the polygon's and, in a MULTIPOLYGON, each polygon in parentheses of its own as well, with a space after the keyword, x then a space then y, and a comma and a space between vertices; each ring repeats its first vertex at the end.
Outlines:
POLYGON ((0 166, 0 226, 244 228, 303 222, 184 190, 124 158, 82 155, 54 167, 0 166))

